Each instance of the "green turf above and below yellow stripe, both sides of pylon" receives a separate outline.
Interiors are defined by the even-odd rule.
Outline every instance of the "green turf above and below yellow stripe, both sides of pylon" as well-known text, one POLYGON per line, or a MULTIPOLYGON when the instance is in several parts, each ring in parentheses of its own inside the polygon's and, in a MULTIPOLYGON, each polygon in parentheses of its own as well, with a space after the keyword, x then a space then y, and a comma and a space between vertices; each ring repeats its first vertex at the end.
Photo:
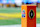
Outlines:
MULTIPOLYGON (((40 13, 40 8, 37 8, 36 12, 40 13)), ((0 8, 0 13, 21 13, 21 8, 0 8)), ((40 18, 37 18, 36 22, 40 23, 40 18)), ((13 24, 21 24, 21 18, 0 20, 0 25, 13 25, 13 24)))

